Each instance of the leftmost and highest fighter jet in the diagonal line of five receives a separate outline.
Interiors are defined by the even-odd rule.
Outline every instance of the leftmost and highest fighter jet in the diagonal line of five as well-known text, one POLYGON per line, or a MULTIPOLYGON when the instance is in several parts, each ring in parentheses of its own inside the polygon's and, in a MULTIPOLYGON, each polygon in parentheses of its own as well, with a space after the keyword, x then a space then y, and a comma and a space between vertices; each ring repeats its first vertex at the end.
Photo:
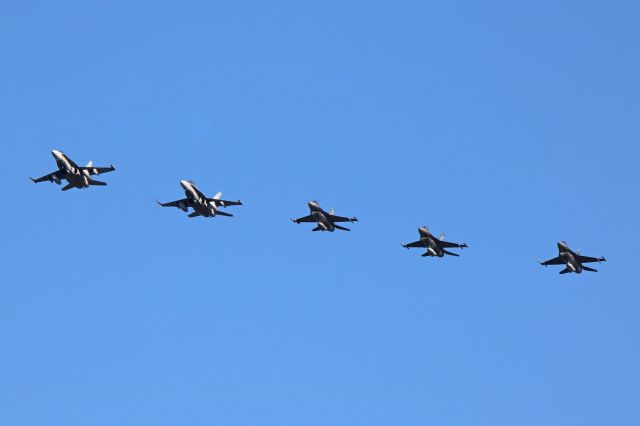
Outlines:
POLYGON ((95 185, 105 186, 106 182, 94 180, 91 176, 112 172, 116 169, 113 165, 109 167, 94 167, 91 161, 89 161, 86 166, 80 167, 67 157, 66 154, 61 151, 56 151, 55 149, 51 151, 51 155, 56 159, 58 170, 39 177, 38 179, 30 178, 34 183, 49 181, 60 185, 63 180, 66 180, 68 183, 62 188, 63 191, 71 188, 88 188, 89 186, 95 185))

